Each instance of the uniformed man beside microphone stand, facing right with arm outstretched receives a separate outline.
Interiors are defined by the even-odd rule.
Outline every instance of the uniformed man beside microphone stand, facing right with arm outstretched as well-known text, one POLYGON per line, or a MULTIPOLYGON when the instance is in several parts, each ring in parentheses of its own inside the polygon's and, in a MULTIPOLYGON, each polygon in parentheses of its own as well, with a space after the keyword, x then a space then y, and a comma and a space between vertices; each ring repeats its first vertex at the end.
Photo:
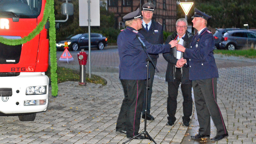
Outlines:
MULTIPOLYGON (((147 79, 146 59, 148 53, 169 52, 171 47, 177 45, 177 41, 169 44, 150 44, 137 30, 142 27, 140 9, 128 13, 123 17, 127 26, 117 36, 119 53, 119 79, 124 89, 124 100, 116 122, 116 133, 126 134, 127 138, 138 135, 140 129, 140 115, 146 90, 147 79), (146 52, 141 47, 139 36, 145 43, 146 52)), ((136 137, 144 138, 144 135, 136 137)))

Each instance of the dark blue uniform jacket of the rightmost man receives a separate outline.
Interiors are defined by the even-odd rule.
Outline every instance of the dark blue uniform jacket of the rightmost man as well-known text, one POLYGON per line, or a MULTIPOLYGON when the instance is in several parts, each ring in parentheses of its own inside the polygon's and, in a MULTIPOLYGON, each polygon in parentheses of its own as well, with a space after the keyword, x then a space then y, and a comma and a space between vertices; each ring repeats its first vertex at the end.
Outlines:
POLYGON ((189 80, 219 77, 218 68, 213 56, 214 39, 212 33, 204 28, 195 35, 190 43, 191 49, 186 49, 184 57, 188 58, 189 80))

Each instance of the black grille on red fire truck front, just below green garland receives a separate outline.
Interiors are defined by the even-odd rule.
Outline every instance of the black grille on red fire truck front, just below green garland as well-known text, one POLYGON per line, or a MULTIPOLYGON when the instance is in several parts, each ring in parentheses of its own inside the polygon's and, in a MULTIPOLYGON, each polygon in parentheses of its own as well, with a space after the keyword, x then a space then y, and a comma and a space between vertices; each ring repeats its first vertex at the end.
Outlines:
POLYGON ((0 64, 16 64, 20 61, 21 45, 0 43, 0 64))

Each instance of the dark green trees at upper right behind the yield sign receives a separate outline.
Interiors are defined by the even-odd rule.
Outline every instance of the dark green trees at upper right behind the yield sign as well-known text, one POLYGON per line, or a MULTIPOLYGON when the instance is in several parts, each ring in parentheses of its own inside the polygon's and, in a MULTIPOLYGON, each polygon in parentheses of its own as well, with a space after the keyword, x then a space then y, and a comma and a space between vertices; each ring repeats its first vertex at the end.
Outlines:
MULTIPOLYGON (((180 5, 177 6, 177 18, 184 17, 180 5)), ((250 28, 256 27, 255 0, 194 1, 194 5, 189 12, 190 15, 188 15, 189 23, 191 22, 190 17, 194 15, 194 7, 212 16, 212 19, 208 21, 208 25, 212 28, 244 28, 244 24, 248 24, 250 28)))

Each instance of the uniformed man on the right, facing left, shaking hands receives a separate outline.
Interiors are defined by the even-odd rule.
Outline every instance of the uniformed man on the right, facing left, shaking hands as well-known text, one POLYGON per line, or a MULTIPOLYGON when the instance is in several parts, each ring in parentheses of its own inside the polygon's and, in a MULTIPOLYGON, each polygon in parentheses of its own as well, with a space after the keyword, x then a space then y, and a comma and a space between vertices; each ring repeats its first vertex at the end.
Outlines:
POLYGON ((217 77, 218 68, 213 56, 214 39, 207 29, 207 20, 211 17, 204 12, 194 9, 192 17, 193 27, 198 33, 193 37, 191 49, 178 44, 176 49, 184 52, 184 61, 189 64, 189 79, 192 80, 196 113, 199 123, 199 131, 192 139, 209 138, 211 133, 211 117, 217 128, 217 133, 212 141, 228 137, 228 131, 224 123, 220 108, 217 104, 217 77))

